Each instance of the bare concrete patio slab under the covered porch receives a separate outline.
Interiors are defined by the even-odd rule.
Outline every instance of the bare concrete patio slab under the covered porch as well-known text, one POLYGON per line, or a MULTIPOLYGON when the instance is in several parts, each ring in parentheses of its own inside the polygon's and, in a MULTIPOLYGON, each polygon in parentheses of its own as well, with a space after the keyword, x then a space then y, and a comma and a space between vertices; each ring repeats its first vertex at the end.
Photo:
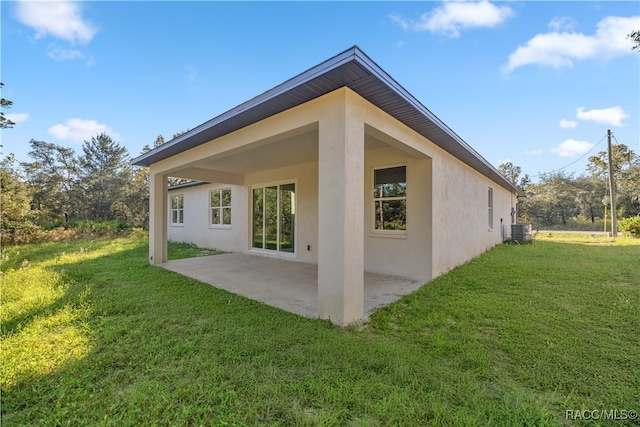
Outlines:
MULTIPOLYGON (((247 253, 168 261, 167 270, 306 317, 318 317, 318 266, 247 253)), ((404 277, 364 275, 365 320, 423 285, 404 277)))

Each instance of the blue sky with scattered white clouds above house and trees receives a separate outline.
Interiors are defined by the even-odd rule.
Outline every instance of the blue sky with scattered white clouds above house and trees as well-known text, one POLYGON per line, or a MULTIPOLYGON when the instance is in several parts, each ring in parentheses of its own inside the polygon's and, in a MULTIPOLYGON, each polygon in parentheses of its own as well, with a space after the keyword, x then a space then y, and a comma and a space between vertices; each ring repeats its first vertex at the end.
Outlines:
POLYGON ((135 157, 353 45, 495 166, 579 174, 607 129, 640 154, 636 1, 0 7, 2 150, 19 160, 31 139, 80 152, 100 132, 135 157))

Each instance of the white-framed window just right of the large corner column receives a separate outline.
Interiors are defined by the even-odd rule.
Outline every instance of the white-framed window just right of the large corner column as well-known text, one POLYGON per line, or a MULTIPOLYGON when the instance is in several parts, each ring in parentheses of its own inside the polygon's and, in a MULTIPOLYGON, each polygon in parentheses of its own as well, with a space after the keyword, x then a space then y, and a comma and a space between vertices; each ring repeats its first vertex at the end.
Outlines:
POLYGON ((407 229, 407 167, 373 171, 375 230, 407 229))

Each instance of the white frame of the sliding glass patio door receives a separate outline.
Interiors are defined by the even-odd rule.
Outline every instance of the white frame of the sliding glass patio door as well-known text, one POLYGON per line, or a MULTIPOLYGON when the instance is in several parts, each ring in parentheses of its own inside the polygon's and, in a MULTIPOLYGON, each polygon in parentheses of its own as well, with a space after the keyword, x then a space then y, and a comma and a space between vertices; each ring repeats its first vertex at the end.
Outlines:
POLYGON ((295 258, 296 257, 296 252, 297 252, 297 241, 298 241, 298 218, 297 218, 297 211, 298 211, 298 180, 297 179, 288 179, 288 180, 281 180, 281 181, 273 181, 273 182, 267 182, 267 183, 261 183, 261 184, 256 184, 256 185, 250 185, 249 186, 249 191, 248 191, 248 231, 249 231, 249 250, 250 251, 255 251, 255 252, 260 252, 260 253, 264 253, 264 254, 269 254, 269 255, 277 255, 277 256, 283 256, 283 257, 291 257, 291 258, 295 258), (280 204, 280 198, 281 198, 281 187, 286 186, 286 185, 293 185, 294 186, 294 192, 293 194, 294 196, 294 201, 292 204, 292 214, 293 214, 293 221, 292 221, 292 234, 293 234, 293 248, 291 251, 286 251, 286 250, 282 250, 281 249, 281 223, 282 223, 282 218, 281 218, 281 213, 282 213, 282 207, 280 204), (275 249, 267 249, 267 243, 265 242, 265 238, 266 238, 266 230, 265 230, 265 217, 266 217, 266 207, 265 207, 265 201, 266 201, 266 189, 267 188, 273 188, 276 187, 276 194, 277 194, 277 215, 276 215, 276 224, 277 224, 277 228, 276 228, 276 235, 277 235, 277 239, 276 239, 276 248, 275 249), (262 197, 263 197, 263 202, 262 202, 262 217, 263 217, 263 221, 262 221, 262 248, 259 247, 255 247, 255 236, 254 236, 254 191, 257 189, 262 189, 263 193, 262 193, 262 197))

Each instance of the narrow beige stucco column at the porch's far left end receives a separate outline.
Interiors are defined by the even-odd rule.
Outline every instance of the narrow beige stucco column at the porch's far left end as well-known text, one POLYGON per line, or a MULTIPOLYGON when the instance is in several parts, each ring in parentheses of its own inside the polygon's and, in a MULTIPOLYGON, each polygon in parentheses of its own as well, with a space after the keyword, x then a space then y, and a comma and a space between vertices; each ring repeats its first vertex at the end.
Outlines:
POLYGON ((149 263, 167 261, 167 178, 151 173, 149 189, 149 263))

